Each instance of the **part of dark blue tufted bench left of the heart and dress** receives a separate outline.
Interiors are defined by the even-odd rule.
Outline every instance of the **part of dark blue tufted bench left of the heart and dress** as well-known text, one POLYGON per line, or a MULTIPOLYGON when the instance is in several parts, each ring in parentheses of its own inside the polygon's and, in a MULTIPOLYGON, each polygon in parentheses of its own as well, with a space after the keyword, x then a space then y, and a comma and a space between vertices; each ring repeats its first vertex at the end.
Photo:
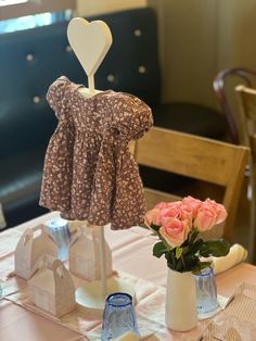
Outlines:
POLYGON ((61 23, 0 36, 0 201, 8 226, 46 212, 38 195, 56 125, 46 101, 49 85, 62 73, 86 78, 66 49, 65 29, 61 23))

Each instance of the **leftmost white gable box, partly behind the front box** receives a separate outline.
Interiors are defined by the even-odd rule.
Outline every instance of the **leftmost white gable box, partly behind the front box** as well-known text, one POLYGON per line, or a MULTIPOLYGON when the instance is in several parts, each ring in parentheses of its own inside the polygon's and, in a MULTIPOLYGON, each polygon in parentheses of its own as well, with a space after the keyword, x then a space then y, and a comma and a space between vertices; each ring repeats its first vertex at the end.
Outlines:
POLYGON ((57 244, 44 225, 27 228, 22 235, 14 253, 14 271, 28 279, 38 269, 38 260, 49 254, 57 258, 57 244))

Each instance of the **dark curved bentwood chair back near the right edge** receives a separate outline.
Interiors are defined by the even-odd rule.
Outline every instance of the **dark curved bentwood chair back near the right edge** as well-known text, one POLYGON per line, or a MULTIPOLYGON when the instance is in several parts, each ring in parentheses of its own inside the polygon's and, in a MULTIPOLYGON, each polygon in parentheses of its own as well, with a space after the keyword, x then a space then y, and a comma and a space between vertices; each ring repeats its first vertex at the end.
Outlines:
POLYGON ((255 80, 256 71, 241 67, 222 70, 214 79, 214 90, 221 111, 226 115, 232 143, 244 143, 244 131, 241 129, 241 116, 239 111, 235 111, 235 108, 232 106, 232 100, 234 100, 234 87, 235 85, 241 84, 241 81, 246 86, 252 87, 255 84, 255 80))

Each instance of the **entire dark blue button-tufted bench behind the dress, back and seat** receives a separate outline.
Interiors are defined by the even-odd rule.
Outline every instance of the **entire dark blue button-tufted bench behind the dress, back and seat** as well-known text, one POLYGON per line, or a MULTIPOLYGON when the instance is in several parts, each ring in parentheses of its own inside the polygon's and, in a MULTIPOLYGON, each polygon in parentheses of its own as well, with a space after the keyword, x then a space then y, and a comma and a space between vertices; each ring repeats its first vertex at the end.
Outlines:
MULTIPOLYGON (((89 21, 99 17, 90 17, 89 21)), ((151 9, 101 15, 113 46, 95 75, 98 89, 133 93, 159 126, 221 138, 225 118, 208 108, 161 104, 157 23, 151 9)), ((8 227, 44 212, 38 206, 43 156, 56 119, 46 101, 60 75, 87 85, 66 39, 67 23, 0 35, 0 201, 8 227)))

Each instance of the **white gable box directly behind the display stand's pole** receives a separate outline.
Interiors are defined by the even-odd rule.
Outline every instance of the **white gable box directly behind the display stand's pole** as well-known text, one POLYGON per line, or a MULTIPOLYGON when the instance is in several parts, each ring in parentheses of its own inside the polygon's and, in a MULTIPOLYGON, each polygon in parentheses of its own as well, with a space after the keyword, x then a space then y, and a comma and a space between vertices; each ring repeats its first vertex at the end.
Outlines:
MULTIPOLYGON (((101 278, 99 229, 78 227, 76 237, 69 247, 69 271, 90 281, 101 278)), ((112 253, 107 242, 104 241, 104 243, 106 276, 110 276, 113 273, 112 253)))

